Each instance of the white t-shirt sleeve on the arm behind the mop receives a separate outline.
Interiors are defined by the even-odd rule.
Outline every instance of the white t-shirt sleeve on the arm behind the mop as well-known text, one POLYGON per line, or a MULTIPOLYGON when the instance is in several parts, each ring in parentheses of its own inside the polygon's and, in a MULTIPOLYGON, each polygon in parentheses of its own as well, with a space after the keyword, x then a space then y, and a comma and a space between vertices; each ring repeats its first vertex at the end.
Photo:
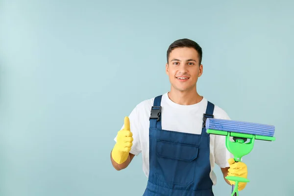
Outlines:
MULTIPOLYGON (((227 113, 223 110, 221 110, 219 114, 215 115, 214 118, 231 120, 230 117, 227 115, 227 113)), ((225 146, 225 138, 226 137, 223 135, 215 135, 215 145, 214 145, 215 163, 220 168, 229 167, 228 159, 234 158, 233 154, 230 153, 225 146)))

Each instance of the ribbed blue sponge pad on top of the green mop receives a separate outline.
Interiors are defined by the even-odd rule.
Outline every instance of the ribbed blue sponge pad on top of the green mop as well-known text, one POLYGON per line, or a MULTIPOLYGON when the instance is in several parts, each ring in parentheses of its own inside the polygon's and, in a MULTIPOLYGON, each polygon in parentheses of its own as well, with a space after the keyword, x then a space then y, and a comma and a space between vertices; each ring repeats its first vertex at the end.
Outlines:
POLYGON ((240 121, 207 118, 206 129, 273 137, 274 126, 240 121))

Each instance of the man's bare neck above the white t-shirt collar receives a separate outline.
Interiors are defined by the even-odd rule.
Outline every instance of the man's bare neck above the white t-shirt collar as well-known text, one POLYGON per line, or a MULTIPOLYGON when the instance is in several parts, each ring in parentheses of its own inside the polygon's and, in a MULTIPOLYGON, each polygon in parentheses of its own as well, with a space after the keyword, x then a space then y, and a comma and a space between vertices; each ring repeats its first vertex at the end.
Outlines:
POLYGON ((187 90, 187 91, 178 91, 171 88, 171 91, 168 93, 169 98, 179 105, 193 105, 202 100, 196 89, 187 90))

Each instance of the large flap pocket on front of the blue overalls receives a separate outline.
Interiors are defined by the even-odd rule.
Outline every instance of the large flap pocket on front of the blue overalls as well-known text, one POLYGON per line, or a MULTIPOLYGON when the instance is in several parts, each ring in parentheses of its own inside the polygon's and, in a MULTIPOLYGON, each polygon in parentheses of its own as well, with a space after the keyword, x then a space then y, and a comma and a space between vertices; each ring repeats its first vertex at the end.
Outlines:
POLYGON ((194 180, 198 146, 157 140, 155 173, 172 184, 189 185, 194 180))

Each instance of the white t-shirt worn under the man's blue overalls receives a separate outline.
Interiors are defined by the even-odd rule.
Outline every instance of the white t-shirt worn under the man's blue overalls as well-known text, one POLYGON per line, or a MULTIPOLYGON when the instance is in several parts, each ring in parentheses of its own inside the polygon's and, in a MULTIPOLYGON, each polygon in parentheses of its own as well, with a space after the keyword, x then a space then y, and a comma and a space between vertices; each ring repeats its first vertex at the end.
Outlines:
MULTIPOLYGON (((143 172, 148 177, 149 174, 149 117, 154 98, 142 101, 132 110, 129 115, 130 129, 133 133, 133 146, 130 153, 138 155, 142 153, 143 172)), ((193 105, 179 105, 173 102, 168 93, 162 95, 161 99, 162 129, 201 134, 203 114, 206 112, 207 99, 203 98, 200 102, 193 105)), ((215 105, 215 119, 227 119, 229 116, 220 107, 215 105)), ((122 127, 123 128, 123 127, 122 127)), ((116 141, 116 137, 114 139, 116 141)), ((217 177, 213 172, 215 164, 221 168, 228 167, 227 160, 233 155, 226 149, 225 136, 210 135, 210 177, 213 184, 216 184, 217 177)))

